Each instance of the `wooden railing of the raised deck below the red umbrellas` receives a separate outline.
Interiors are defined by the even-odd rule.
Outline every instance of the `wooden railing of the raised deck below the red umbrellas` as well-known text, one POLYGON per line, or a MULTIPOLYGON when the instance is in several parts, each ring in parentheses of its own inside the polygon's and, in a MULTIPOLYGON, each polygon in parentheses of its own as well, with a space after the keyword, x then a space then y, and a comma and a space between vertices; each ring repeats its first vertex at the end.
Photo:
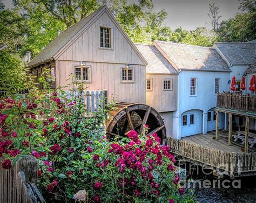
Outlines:
POLYGON ((217 107, 256 112, 256 96, 250 94, 219 93, 217 107))

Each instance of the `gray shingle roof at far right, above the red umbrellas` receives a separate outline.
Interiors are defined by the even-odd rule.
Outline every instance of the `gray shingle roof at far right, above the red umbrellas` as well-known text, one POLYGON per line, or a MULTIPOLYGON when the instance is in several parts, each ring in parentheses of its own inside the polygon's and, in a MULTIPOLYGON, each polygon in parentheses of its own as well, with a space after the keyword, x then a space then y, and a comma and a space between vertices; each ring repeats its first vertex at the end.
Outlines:
POLYGON ((256 58, 255 43, 215 43, 232 65, 250 65, 256 58))

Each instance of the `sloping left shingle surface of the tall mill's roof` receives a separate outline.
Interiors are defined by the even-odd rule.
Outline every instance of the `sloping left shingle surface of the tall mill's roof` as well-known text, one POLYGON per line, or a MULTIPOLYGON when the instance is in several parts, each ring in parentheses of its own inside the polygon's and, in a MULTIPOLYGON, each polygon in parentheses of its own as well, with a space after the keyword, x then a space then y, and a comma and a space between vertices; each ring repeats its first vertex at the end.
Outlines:
POLYGON ((83 27, 90 22, 90 20, 95 17, 100 11, 105 8, 98 9, 91 15, 83 18, 78 23, 72 25, 64 32, 60 33, 58 37, 53 39, 41 52, 39 52, 36 57, 34 57, 28 64, 28 66, 36 65, 40 62, 48 60, 53 57, 65 44, 67 44, 83 27))

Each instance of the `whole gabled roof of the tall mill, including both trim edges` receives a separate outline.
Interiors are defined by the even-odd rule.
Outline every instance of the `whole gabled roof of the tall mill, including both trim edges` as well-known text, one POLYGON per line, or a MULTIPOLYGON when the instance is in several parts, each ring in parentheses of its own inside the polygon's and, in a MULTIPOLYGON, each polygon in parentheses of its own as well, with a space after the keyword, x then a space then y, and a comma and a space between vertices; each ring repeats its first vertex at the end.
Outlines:
POLYGON ((114 23, 117 24, 118 29, 124 34, 125 38, 129 42, 129 44, 132 46, 134 51, 138 54, 139 58, 144 62, 146 65, 146 60, 143 58, 142 54, 138 51, 137 47, 132 43, 131 39, 127 36, 125 31, 122 29, 122 26, 117 22, 116 18, 113 17, 110 10, 107 8, 106 5, 102 6, 102 8, 98 9, 97 11, 93 12, 91 15, 87 16, 86 18, 83 18, 76 24, 72 25, 55 39, 53 39, 41 52, 39 52, 35 58, 33 58, 29 64, 28 67, 33 67, 38 64, 43 63, 44 61, 53 60, 58 57, 58 53, 60 51, 63 51, 66 47, 68 47, 73 40, 79 36, 82 32, 84 32, 102 13, 106 11, 109 13, 111 19, 114 21, 114 23))

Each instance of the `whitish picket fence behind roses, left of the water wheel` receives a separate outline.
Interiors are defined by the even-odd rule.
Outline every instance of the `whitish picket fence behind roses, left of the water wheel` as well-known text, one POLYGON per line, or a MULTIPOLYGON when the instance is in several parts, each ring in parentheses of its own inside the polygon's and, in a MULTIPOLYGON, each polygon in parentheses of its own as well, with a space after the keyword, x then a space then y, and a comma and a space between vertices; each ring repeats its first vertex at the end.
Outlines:
MULTIPOLYGON (((69 100, 75 99, 79 94, 76 91, 66 91, 66 96, 69 100)), ((86 90, 83 91, 82 97, 88 112, 98 112, 99 107, 102 107, 101 109, 103 110, 107 103, 107 90, 86 90)))

